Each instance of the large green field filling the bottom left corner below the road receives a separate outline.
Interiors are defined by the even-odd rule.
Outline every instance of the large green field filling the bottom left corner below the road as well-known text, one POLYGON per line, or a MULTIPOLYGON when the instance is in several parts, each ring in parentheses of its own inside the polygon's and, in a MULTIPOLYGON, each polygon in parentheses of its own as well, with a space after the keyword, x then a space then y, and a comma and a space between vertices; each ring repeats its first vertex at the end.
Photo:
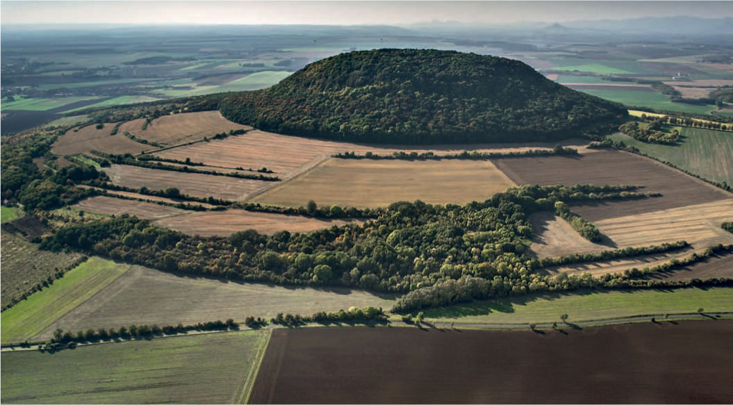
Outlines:
POLYGON ((5 404, 243 404, 269 331, 4 352, 5 404))

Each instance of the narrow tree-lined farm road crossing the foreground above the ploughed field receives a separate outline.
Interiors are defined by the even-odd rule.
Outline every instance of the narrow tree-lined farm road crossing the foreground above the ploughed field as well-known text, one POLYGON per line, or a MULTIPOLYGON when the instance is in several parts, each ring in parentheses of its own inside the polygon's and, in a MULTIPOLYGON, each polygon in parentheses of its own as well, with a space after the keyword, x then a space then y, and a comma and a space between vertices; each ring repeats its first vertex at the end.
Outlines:
MULTIPOLYGON (((733 320, 733 312, 711 312, 711 313, 680 313, 677 315, 669 315, 668 317, 665 317, 664 315, 644 315, 644 316, 625 316, 623 318, 616 318, 616 319, 600 319, 597 321, 583 321, 583 322, 567 322, 567 324, 564 324, 563 322, 557 323, 557 330, 559 332, 562 332, 564 329, 583 329, 583 327, 597 327, 597 326, 609 326, 609 325, 619 325, 619 324, 630 324, 630 323, 636 323, 636 322, 652 322, 652 319, 655 319, 655 323, 657 324, 664 324, 669 322, 677 322, 677 321, 690 321, 690 320, 699 320, 699 321, 726 321, 726 320, 733 320)), ((463 328, 463 329, 490 329, 490 330, 526 330, 528 328, 528 324, 491 324, 491 323, 472 323, 472 324, 462 324, 462 323, 451 323, 451 322, 423 322, 423 325, 427 327, 426 329, 446 329, 446 328, 463 328)), ((308 324, 302 324, 299 327, 317 327, 322 326, 322 324, 311 322, 308 324)), ((361 326, 361 325, 356 325, 361 326)), ((405 324, 405 326, 408 326, 405 324)), ((552 322, 549 323, 541 323, 536 324, 535 330, 540 329, 552 329, 552 322)), ((273 325, 268 324, 264 329, 278 329, 281 328, 280 325, 273 325)), ((242 327, 240 330, 250 330, 248 327, 242 327)), ((163 338, 175 338, 177 336, 190 336, 190 335, 200 335, 202 333, 221 333, 226 331, 203 331, 203 332, 188 332, 182 335, 168 335, 163 336, 163 338)), ((106 343, 116 343, 114 341, 105 341, 105 342, 97 342, 97 343, 81 343, 78 344, 78 346, 89 346, 92 344, 106 344, 106 343)), ((40 349, 40 344, 33 344, 26 347, 2 347, 0 348, 0 352, 21 352, 23 350, 38 350, 40 349)))

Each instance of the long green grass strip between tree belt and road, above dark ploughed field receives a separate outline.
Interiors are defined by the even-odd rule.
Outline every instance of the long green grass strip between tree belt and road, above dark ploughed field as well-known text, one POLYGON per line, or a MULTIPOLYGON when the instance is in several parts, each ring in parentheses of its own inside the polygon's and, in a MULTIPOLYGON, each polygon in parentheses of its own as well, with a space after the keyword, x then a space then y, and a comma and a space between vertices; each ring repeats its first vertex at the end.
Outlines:
POLYGON ((571 322, 665 313, 733 311, 733 288, 585 291, 538 294, 505 300, 471 302, 425 311, 439 322, 526 324, 556 322, 562 313, 571 322))

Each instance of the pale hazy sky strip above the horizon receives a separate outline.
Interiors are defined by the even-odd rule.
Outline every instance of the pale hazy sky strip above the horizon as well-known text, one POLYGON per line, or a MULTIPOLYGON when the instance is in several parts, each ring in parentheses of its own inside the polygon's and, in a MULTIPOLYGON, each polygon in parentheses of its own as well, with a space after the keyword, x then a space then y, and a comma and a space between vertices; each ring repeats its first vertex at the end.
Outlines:
POLYGON ((0 1, 3 24, 408 24, 733 17, 732 1, 0 1))

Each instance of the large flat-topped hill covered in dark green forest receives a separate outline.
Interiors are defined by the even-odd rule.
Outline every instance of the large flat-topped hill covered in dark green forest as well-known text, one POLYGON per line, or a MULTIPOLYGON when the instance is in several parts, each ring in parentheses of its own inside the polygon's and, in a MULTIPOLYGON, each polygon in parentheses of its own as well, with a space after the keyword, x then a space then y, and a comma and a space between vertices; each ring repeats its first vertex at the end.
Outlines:
POLYGON ((555 140, 627 114, 513 59, 414 49, 342 53, 220 109, 261 130, 392 144, 555 140))

